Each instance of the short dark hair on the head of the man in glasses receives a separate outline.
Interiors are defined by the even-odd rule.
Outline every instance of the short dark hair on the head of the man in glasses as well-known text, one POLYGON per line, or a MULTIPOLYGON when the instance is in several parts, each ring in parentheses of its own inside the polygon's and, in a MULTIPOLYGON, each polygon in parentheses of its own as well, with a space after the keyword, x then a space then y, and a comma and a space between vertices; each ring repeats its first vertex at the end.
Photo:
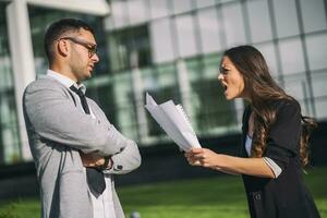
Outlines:
POLYGON ((52 23, 45 34, 45 50, 49 62, 53 60, 53 43, 63 34, 78 32, 81 28, 89 31, 94 35, 94 29, 85 22, 77 19, 62 19, 52 23))

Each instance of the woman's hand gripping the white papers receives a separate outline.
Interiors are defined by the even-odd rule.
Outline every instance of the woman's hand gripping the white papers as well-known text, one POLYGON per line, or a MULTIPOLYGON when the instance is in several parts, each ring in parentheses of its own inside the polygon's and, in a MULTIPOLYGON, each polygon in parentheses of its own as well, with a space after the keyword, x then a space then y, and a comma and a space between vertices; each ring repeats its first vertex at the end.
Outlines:
POLYGON ((217 169, 219 166, 219 155, 207 148, 192 148, 185 153, 190 165, 217 169))

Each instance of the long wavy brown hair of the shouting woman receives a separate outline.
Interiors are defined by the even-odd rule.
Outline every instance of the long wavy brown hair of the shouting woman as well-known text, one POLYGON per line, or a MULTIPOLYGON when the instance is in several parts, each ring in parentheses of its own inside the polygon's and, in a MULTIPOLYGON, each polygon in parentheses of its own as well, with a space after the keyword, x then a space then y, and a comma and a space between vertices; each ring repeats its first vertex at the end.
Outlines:
MULTIPOLYGON (((262 157, 271 124, 276 121, 277 108, 274 101, 287 99, 300 104, 280 88, 272 80, 263 55, 252 46, 239 46, 225 51, 235 68, 243 75, 246 90, 250 93, 251 107, 254 112, 254 131, 252 156, 262 157)), ((308 164, 308 138, 316 126, 313 118, 301 116, 302 131, 300 140, 300 159, 302 166, 308 164)))

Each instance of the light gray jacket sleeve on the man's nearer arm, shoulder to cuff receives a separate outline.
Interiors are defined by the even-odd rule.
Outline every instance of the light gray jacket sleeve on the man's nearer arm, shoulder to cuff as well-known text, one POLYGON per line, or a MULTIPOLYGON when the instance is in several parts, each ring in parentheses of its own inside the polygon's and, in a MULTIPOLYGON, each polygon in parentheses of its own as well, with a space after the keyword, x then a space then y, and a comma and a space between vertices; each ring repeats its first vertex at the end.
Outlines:
POLYGON ((27 86, 23 96, 27 131, 84 153, 107 156, 125 148, 125 140, 113 125, 78 110, 63 88, 53 82, 34 82, 27 86))

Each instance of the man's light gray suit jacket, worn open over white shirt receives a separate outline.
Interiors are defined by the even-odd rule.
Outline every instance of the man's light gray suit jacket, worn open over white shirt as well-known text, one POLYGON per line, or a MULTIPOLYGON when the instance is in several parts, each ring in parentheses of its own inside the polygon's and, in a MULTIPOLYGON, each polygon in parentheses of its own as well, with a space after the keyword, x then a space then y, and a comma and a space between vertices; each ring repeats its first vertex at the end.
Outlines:
MULTIPOLYGON (((135 142, 110 124, 92 99, 96 119, 85 114, 78 96, 50 76, 31 83, 23 96, 23 111, 31 152, 40 184, 43 218, 92 218, 86 174, 78 152, 112 155, 107 173, 123 174, 141 165, 135 142)), ((113 180, 112 180, 113 181, 113 180)), ((112 182, 117 218, 123 218, 112 182)))

